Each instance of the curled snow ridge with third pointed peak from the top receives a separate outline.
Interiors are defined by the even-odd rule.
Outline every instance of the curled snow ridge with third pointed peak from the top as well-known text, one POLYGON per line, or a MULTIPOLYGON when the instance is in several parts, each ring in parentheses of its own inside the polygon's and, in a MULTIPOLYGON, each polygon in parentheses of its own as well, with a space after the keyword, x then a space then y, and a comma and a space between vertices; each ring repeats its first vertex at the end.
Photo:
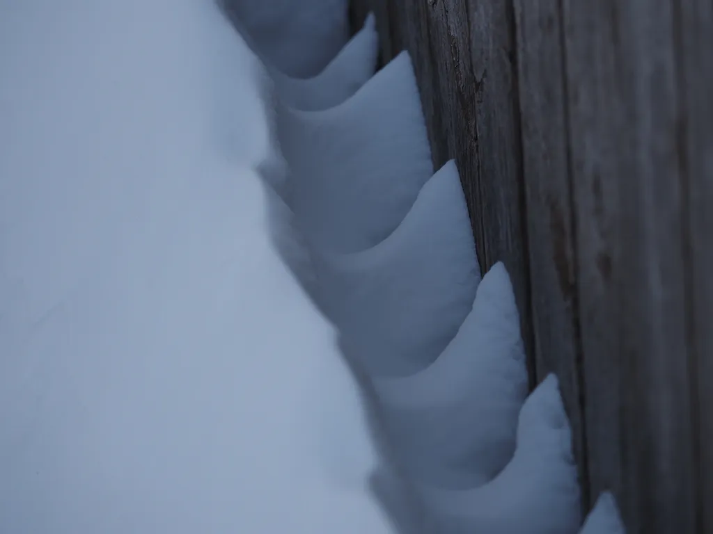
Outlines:
POLYGON ((424 369, 471 310, 480 271, 455 162, 419 193, 396 230, 365 251, 314 253, 317 300, 342 350, 367 375, 424 369))

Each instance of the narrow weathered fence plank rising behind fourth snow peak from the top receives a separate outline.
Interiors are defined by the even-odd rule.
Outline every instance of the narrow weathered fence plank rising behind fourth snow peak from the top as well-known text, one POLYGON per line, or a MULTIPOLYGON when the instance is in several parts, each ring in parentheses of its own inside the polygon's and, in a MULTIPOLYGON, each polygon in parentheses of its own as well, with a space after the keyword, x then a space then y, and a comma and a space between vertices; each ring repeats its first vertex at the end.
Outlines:
MULTIPOLYGON (((486 267, 503 261, 508 268, 520 310, 523 340, 533 357, 530 276, 523 185, 522 139, 518 104, 515 19, 511 0, 467 0, 475 128, 469 139, 478 145, 473 209, 478 210, 486 267)), ((460 14, 456 14, 460 16, 460 14)), ((459 31, 448 17, 448 30, 459 31)), ((478 234, 476 234, 478 236, 478 234)), ((533 364, 533 362, 530 362, 533 364)), ((534 365, 530 372, 536 375, 534 365)))

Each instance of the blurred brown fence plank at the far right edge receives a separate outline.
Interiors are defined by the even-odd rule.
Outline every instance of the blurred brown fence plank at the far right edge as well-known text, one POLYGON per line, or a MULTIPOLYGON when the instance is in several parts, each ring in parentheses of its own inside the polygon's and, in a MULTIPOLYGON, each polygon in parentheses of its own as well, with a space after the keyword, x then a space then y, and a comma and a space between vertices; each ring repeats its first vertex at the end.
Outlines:
POLYGON ((700 532, 713 533, 713 4, 672 3, 679 66, 679 167, 688 217, 689 335, 697 381, 700 532))

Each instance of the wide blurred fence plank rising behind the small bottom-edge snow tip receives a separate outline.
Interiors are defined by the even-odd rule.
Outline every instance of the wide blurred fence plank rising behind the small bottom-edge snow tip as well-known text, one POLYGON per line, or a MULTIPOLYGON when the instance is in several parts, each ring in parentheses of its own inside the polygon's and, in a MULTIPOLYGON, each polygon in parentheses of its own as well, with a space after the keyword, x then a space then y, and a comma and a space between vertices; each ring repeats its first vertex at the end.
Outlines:
POLYGON ((563 6, 592 488, 694 533, 670 0, 563 6))

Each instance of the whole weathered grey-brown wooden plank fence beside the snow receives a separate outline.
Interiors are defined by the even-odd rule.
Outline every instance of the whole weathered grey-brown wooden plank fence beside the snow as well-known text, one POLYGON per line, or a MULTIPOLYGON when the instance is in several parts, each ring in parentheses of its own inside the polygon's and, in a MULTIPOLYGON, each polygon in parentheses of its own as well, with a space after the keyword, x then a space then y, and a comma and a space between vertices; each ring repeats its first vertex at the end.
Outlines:
MULTIPOLYGON (((713 533, 713 3, 354 0, 414 58, 533 381, 560 378, 585 509, 713 533)), ((586 510, 585 510, 586 511, 586 510)))

